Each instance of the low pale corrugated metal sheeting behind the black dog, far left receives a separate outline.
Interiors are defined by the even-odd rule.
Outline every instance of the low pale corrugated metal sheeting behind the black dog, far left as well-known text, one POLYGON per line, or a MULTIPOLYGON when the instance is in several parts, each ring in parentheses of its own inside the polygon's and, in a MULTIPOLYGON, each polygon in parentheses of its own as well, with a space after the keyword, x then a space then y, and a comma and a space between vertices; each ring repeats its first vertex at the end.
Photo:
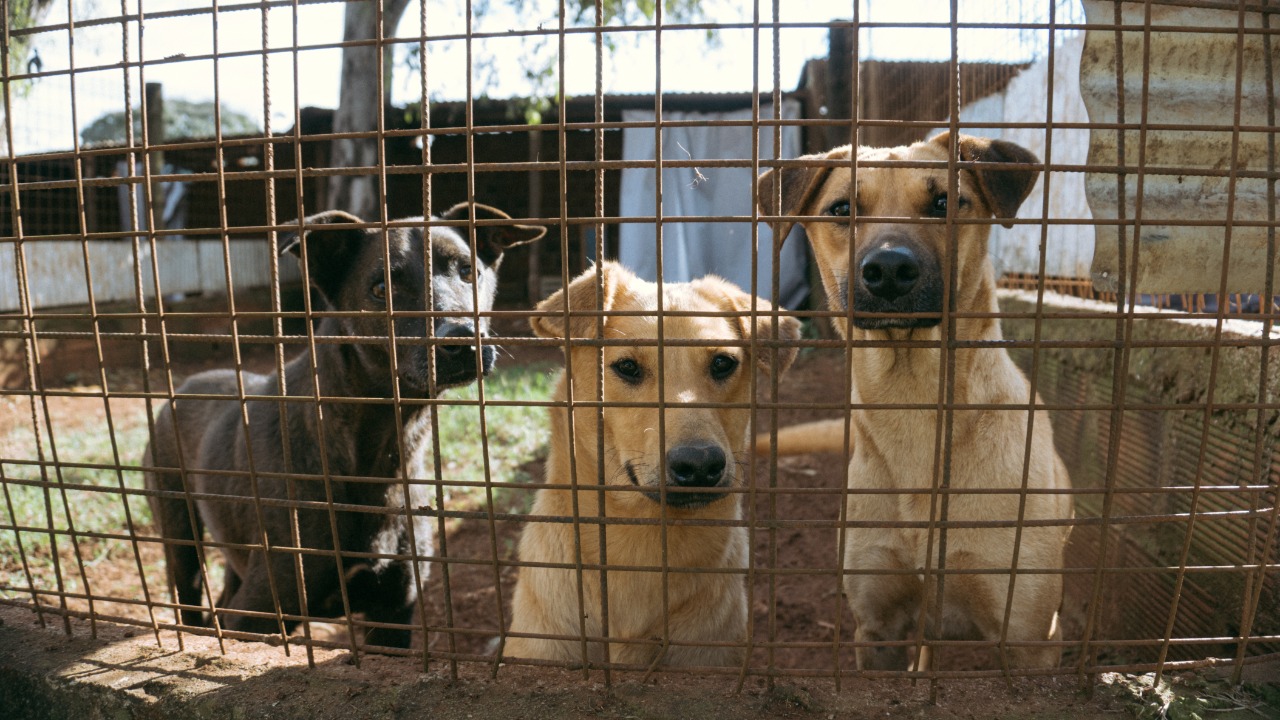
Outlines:
MULTIPOLYGON (((230 247, 232 283, 236 290, 266 287, 271 282, 270 247, 266 241, 234 241, 230 247)), ((0 251, 0 311, 20 309, 15 245, 0 251)), ((33 309, 88 304, 84 279, 84 250, 78 241, 33 241, 23 245, 27 286, 33 309)), ((160 287, 165 295, 224 295, 227 270, 223 243, 216 240, 169 241, 156 245, 160 287)), ((92 270, 93 300, 127 302, 137 299, 141 270, 146 297, 155 296, 151 249, 142 243, 137 259, 133 243, 91 240, 88 263, 92 270)), ((292 258, 280 261, 280 281, 297 282, 300 273, 292 258)))

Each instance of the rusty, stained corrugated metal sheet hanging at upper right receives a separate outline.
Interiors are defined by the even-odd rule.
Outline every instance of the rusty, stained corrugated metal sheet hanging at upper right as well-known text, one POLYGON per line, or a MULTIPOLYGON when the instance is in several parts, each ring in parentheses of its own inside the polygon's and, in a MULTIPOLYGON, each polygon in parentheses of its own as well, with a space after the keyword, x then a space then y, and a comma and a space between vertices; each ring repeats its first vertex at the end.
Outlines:
MULTIPOLYGON (((1087 22, 1114 23, 1116 5, 1110 0, 1085 0, 1087 22)), ((1144 3, 1119 5, 1124 24, 1144 26, 1144 3)), ((1280 27, 1280 17, 1272 17, 1270 22, 1272 28, 1280 27)), ((1267 126, 1267 105, 1275 102, 1276 90, 1267 86, 1266 72, 1268 65, 1272 72, 1280 70, 1280 38, 1271 38, 1270 47, 1266 46, 1265 36, 1257 32, 1262 27, 1262 17, 1257 12, 1156 3, 1151 6, 1149 23, 1149 33, 1142 29, 1121 33, 1124 120, 1133 124, 1142 122, 1146 101, 1148 126, 1175 127, 1148 129, 1142 147, 1139 131, 1124 133, 1126 165, 1137 168, 1139 152, 1144 152, 1138 291, 1217 292, 1228 225, 1233 222, 1267 222, 1270 205, 1266 179, 1236 178, 1233 187, 1229 172, 1233 168, 1249 172, 1272 168, 1274 172, 1276 164, 1267 147, 1268 137, 1275 133, 1274 127, 1270 132, 1238 133, 1239 146, 1233 159, 1231 147, 1236 140, 1236 133, 1233 133, 1236 50, 1243 50, 1240 124, 1267 126), (1245 32, 1234 32, 1238 27, 1245 32), (1228 28, 1233 32, 1188 28, 1228 28), (1248 32, 1251 29, 1254 32, 1248 32), (1149 59, 1146 77, 1144 56, 1149 59), (1233 193, 1235 208, 1229 217, 1233 193), (1183 224, 1189 220, 1216 222, 1208 227, 1183 224)), ((1115 123, 1119 118, 1116 50, 1114 31, 1093 29, 1087 33, 1080 91, 1093 123, 1115 123)), ((1119 131, 1094 129, 1091 133, 1089 163, 1116 164, 1119 141, 1119 131)), ((1094 218, 1120 217, 1121 201, 1123 215, 1129 219, 1135 217, 1139 173, 1125 177, 1123 199, 1119 197, 1116 178, 1114 172, 1087 176, 1085 190, 1094 218)), ((1266 227, 1231 228, 1228 291, 1258 292, 1265 288, 1267 232, 1266 227)), ((1126 237, 1126 251, 1132 254, 1132 228, 1126 237)), ((1117 290, 1120 259, 1116 228, 1100 225, 1092 265, 1094 287, 1117 290)))

